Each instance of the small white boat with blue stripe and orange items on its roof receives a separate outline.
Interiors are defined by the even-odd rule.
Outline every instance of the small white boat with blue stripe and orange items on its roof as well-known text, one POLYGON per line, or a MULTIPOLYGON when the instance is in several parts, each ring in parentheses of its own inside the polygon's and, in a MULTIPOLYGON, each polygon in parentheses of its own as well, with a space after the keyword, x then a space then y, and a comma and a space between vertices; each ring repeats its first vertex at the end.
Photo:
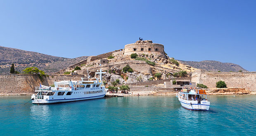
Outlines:
POLYGON ((207 100, 205 90, 183 89, 176 94, 183 108, 188 110, 209 110, 210 102, 207 100))

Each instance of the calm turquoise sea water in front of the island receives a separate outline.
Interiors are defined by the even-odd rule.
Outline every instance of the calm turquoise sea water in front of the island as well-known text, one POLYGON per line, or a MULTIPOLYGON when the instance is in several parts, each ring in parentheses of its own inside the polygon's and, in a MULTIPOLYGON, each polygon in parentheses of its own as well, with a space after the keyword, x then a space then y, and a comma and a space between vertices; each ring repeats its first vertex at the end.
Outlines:
POLYGON ((256 135, 256 96, 210 96, 209 111, 182 108, 175 96, 130 96, 35 105, 0 96, 6 135, 256 135))

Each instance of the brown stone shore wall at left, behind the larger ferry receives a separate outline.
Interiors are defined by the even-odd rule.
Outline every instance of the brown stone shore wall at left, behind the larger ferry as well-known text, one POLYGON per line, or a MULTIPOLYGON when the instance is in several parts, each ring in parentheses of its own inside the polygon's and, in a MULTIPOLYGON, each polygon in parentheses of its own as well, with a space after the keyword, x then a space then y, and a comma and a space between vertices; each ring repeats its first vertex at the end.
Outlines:
POLYGON ((52 74, 41 81, 37 75, 33 74, 0 74, 0 94, 32 94, 40 83, 50 86, 55 80, 81 80, 81 77, 84 75, 52 74))

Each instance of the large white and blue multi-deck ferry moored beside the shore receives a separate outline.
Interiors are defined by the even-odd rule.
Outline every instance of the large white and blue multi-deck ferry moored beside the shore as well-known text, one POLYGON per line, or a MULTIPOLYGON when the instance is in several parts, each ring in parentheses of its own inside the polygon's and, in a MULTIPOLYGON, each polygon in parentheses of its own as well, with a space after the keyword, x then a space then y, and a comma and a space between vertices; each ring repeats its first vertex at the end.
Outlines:
MULTIPOLYGON (((100 70, 100 79, 102 79, 100 70)), ((81 78, 81 81, 54 82, 55 87, 47 87, 40 84, 31 96, 32 103, 50 104, 69 101, 81 101, 103 98, 106 94, 105 86, 97 78, 81 78)))

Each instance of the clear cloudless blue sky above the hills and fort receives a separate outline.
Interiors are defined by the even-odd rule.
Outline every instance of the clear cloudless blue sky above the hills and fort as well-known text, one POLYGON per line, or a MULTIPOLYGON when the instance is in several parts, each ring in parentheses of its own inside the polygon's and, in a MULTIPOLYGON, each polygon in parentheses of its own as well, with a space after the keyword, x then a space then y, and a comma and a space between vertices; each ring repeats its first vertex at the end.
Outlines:
POLYGON ((75 58, 139 37, 175 59, 256 71, 256 0, 0 0, 0 46, 75 58))

